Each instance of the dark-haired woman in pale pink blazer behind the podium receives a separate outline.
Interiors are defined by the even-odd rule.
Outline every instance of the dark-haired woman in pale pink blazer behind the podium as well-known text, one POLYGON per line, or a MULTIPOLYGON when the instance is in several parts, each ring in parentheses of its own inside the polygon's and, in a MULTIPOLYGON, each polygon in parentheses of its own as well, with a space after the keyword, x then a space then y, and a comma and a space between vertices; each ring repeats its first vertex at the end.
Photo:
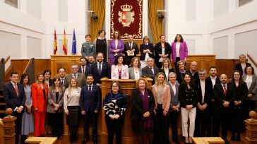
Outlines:
POLYGON ((114 80, 129 78, 128 66, 125 65, 124 57, 121 55, 116 56, 114 65, 112 65, 111 78, 114 80))

